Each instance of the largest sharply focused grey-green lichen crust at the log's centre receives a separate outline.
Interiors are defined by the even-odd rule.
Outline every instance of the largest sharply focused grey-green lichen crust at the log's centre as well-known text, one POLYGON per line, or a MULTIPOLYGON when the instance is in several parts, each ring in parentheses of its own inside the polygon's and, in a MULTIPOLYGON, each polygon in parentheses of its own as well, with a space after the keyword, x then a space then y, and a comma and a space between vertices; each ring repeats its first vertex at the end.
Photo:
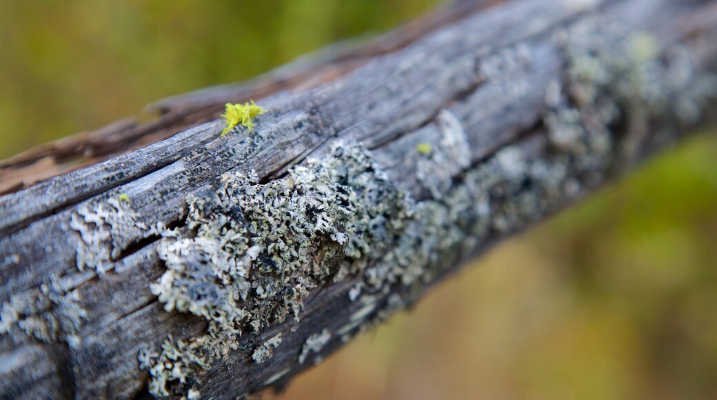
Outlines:
POLYGON ((187 361, 204 366, 237 348, 242 332, 298 319, 309 291, 333 280, 345 257, 356 261, 342 273, 360 272, 412 219, 409 196, 359 146, 336 146, 267 184, 229 173, 217 191, 187 201, 188 229, 159 244, 167 272, 151 290, 166 310, 198 315, 209 328, 181 352, 167 341, 161 354, 142 354, 156 395, 167 380, 186 380, 187 361))

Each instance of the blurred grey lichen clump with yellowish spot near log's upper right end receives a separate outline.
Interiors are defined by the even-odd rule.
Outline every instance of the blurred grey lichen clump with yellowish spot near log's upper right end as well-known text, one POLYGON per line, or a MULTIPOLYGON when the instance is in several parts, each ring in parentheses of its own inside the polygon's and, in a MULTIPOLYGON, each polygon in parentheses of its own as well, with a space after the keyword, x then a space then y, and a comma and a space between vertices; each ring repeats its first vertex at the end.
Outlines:
MULTIPOLYGON (((637 161, 647 141, 673 141, 680 127, 700 119, 699 110, 714 97, 714 75, 696 78, 693 62, 680 47, 670 49, 670 60, 664 62, 657 41, 646 32, 594 18, 560 39, 569 65, 561 95, 549 102, 551 143, 579 156, 589 148, 598 153, 614 149, 613 170, 637 161)), ((597 161, 587 157, 581 162, 589 168, 597 161)))

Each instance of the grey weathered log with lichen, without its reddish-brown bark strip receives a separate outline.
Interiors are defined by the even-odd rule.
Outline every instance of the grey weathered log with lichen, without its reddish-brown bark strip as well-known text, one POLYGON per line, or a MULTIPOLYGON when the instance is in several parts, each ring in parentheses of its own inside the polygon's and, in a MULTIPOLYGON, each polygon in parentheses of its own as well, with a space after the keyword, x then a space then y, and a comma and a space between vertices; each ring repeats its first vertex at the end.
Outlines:
MULTIPOLYGON (((475 10, 255 98, 254 130, 215 120, 0 197, 0 394, 279 384, 713 123, 713 2, 475 10)), ((222 90, 157 107, 192 125, 222 90)))

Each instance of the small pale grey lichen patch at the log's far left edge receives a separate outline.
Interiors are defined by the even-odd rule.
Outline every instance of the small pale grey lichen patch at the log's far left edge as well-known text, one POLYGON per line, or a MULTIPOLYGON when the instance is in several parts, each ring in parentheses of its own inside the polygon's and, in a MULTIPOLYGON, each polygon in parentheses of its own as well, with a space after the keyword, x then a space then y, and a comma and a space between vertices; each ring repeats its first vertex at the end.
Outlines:
POLYGON ((70 290, 53 275, 37 292, 11 296, 0 306, 0 334, 24 333, 39 341, 65 341, 77 348, 87 314, 80 300, 77 290, 70 290))

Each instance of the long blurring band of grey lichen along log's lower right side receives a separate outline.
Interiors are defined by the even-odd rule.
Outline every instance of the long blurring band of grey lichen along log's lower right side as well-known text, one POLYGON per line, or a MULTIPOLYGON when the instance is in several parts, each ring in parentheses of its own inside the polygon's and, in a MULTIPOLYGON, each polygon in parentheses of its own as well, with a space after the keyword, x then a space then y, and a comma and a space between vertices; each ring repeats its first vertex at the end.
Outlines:
MULTIPOLYGON (((546 92, 547 146, 527 140, 476 166, 461 161, 470 153, 440 157, 439 149, 418 157, 417 178, 429 196, 415 205, 416 218, 397 245, 364 270, 363 285, 354 286, 361 291, 349 290, 351 300, 363 304, 338 330, 343 341, 407 308, 443 270, 475 249, 551 214, 635 161, 645 141, 660 138, 646 130, 650 124, 673 137, 680 124, 696 120, 684 110, 701 110, 713 96, 695 80, 677 79, 693 77, 687 60, 665 68, 648 34, 594 19, 558 40, 568 62, 564 81, 552 82, 546 92), (685 103, 693 107, 680 107, 685 103), (441 176, 455 168, 456 159, 462 172, 441 176), (387 293, 385 305, 375 308, 374 296, 387 293)), ((461 143, 452 146, 458 151, 468 148, 457 118, 442 115, 452 121, 443 137, 461 143)))

